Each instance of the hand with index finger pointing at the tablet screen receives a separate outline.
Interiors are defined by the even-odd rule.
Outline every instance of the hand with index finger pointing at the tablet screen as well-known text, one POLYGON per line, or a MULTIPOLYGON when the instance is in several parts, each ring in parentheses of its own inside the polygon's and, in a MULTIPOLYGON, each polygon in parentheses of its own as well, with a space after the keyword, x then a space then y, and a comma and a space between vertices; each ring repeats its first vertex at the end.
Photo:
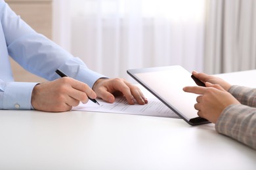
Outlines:
POLYGON ((195 109, 198 110, 198 116, 216 123, 221 115, 221 112, 232 104, 240 104, 236 98, 226 92, 219 84, 205 83, 206 87, 202 86, 187 86, 184 87, 184 92, 196 93, 199 96, 196 98, 195 109))

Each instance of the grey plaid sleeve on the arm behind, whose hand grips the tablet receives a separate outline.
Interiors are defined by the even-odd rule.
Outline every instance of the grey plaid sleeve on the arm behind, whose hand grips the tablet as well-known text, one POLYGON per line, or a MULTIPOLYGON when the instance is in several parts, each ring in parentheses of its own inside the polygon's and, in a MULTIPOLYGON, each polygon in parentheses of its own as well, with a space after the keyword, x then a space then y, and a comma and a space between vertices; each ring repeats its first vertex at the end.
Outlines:
POLYGON ((231 86, 228 90, 240 103, 249 107, 256 107, 256 88, 231 86))

